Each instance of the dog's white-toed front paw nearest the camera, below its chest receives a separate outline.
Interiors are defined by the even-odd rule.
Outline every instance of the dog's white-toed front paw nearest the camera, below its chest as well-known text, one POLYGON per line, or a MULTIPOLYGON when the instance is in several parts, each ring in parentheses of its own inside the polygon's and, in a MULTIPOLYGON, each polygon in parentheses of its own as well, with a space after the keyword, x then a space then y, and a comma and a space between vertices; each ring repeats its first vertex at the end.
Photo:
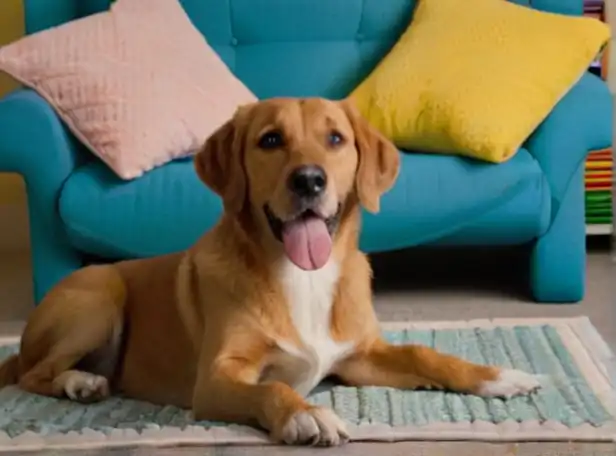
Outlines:
POLYGON ((278 434, 278 440, 290 445, 337 446, 349 440, 344 422, 322 407, 297 412, 278 434))

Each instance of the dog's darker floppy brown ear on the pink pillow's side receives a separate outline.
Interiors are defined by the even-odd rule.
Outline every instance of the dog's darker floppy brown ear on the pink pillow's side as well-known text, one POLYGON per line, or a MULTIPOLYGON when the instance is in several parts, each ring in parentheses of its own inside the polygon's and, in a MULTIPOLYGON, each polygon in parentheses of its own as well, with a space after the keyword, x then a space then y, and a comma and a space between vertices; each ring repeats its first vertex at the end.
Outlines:
POLYGON ((218 128, 194 159, 199 178, 222 198, 225 210, 234 214, 242 210, 246 199, 244 134, 236 117, 218 128))

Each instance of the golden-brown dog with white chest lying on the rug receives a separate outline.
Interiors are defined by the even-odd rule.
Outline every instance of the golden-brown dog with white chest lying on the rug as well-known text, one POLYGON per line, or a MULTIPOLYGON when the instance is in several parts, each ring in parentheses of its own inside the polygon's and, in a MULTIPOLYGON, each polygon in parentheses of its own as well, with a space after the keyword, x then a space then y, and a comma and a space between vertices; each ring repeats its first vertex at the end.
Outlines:
POLYGON ((60 281, 1 385, 81 402, 121 392, 325 446, 349 439, 333 411, 304 399, 328 376, 480 396, 540 387, 529 373, 381 337, 358 237, 362 207, 378 212, 400 156, 351 101, 242 106, 194 164, 223 202, 218 223, 185 252, 60 281))

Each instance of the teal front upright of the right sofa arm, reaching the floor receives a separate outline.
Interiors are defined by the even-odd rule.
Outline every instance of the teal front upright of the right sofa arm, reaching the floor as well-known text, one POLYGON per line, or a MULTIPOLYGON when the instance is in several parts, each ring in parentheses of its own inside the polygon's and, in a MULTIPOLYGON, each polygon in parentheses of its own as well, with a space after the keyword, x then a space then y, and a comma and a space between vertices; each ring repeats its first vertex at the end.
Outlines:
POLYGON ((552 204, 558 204, 552 210, 556 217, 531 253, 531 290, 540 303, 576 303, 584 298, 586 281, 584 162, 560 203, 552 204))

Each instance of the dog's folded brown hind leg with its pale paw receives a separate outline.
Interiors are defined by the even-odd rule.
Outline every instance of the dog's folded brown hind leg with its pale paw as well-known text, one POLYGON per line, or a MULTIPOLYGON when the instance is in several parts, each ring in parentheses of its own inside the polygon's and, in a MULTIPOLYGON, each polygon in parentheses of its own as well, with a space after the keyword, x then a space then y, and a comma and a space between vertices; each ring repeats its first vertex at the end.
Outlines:
POLYGON ((90 266, 56 285, 24 330, 19 386, 83 402, 109 395, 125 300, 124 281, 113 266, 90 266))

